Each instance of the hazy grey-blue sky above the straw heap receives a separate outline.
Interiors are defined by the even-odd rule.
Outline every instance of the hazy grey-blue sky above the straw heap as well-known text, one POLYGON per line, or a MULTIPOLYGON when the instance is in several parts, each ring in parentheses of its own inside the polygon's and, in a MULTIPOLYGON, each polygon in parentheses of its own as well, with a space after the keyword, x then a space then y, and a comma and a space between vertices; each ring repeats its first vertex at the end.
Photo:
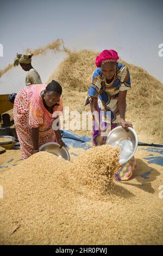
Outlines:
POLYGON ((0 8, 0 69, 27 47, 62 38, 72 50, 115 49, 163 83, 163 1, 5 0, 0 8))

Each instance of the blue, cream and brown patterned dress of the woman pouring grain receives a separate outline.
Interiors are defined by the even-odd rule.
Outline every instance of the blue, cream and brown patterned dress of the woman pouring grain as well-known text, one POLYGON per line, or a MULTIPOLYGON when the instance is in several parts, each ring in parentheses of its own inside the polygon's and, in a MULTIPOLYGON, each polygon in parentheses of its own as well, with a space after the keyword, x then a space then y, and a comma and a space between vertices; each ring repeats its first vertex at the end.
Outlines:
MULTIPOLYGON (((118 63, 114 80, 111 83, 106 83, 101 68, 97 68, 92 75, 92 83, 88 90, 86 104, 90 103, 93 98, 98 99, 98 114, 101 128, 105 130, 107 124, 110 125, 110 130, 120 125, 120 111, 118 109, 119 92, 128 90, 131 87, 130 74, 126 65, 118 63)), ((97 146, 99 141, 99 130, 96 123, 93 121, 92 141, 97 146)), ((134 173, 136 162, 134 157, 123 164, 115 178, 117 180, 128 180, 134 173)))

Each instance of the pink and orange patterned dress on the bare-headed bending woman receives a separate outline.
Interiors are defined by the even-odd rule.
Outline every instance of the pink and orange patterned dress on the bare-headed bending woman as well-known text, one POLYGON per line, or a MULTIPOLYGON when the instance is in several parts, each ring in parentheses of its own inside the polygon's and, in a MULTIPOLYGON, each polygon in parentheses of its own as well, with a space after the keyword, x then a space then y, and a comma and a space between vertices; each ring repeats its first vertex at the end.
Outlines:
MULTIPOLYGON (((17 93, 14 101, 14 123, 23 159, 33 154, 32 128, 39 127, 39 147, 57 141, 52 129, 53 114, 47 111, 42 102, 41 92, 45 88, 46 84, 27 86, 17 93)), ((63 111, 62 97, 53 110, 63 111)))

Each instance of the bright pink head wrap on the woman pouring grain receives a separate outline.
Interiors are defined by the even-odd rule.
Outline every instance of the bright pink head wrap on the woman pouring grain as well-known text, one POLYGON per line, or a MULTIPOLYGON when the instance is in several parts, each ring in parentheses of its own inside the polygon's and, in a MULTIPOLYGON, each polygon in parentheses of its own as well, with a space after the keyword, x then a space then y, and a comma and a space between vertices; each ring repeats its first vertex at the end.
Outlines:
POLYGON ((117 62, 119 56, 114 50, 104 50, 96 58, 97 68, 101 67, 101 64, 106 62, 117 62))

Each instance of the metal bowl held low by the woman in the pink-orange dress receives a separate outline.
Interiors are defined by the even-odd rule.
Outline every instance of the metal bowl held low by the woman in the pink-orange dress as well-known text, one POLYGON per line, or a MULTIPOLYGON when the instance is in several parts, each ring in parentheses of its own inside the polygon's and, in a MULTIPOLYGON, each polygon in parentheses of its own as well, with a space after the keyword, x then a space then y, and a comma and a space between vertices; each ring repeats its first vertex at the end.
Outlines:
POLYGON ((70 161, 70 154, 68 153, 67 149, 65 147, 59 148, 60 145, 56 142, 48 142, 46 144, 43 144, 39 151, 46 151, 48 153, 51 153, 55 156, 59 156, 67 161, 70 161))

